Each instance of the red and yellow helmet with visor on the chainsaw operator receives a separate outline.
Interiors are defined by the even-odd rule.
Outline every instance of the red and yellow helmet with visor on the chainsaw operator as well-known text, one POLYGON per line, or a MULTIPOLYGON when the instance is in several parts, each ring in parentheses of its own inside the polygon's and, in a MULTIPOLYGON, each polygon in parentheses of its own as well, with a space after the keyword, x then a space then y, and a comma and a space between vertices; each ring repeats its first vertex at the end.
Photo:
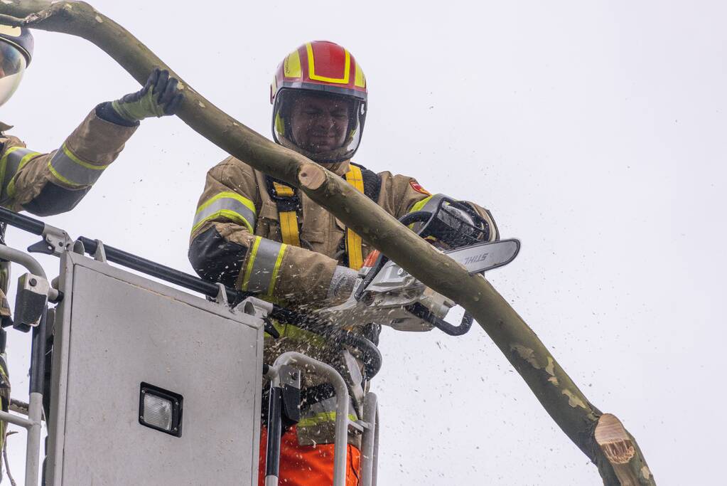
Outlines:
POLYGON ((366 95, 364 71, 348 50, 329 41, 303 44, 278 65, 270 85, 273 138, 276 143, 321 164, 348 160, 361 142, 366 119, 366 95), (333 113, 329 117, 331 123, 345 125, 332 128, 340 130, 340 137, 334 142, 318 139, 320 143, 316 144, 315 140, 302 140, 305 135, 294 130, 293 119, 299 113, 297 105, 305 100, 317 100, 318 106, 324 103, 324 108, 330 105, 333 113), (334 112, 334 106, 337 112, 334 112))

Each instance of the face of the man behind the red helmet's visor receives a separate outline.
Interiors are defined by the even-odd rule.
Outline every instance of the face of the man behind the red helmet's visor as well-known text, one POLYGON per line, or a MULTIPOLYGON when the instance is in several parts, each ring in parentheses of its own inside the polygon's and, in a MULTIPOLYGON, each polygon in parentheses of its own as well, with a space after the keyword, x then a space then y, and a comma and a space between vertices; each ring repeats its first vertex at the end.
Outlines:
POLYGON ((290 113, 290 124, 297 146, 313 154, 342 146, 348 130, 348 108, 345 100, 336 97, 296 97, 290 113))

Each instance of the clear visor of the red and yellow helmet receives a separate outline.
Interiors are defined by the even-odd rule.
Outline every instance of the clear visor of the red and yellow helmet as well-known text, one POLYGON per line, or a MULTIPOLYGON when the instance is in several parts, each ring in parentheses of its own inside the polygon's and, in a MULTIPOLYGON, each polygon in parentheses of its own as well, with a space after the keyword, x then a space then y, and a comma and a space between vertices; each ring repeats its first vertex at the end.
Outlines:
POLYGON ((361 142, 366 102, 305 89, 281 89, 273 107, 273 138, 319 164, 353 157, 361 142))

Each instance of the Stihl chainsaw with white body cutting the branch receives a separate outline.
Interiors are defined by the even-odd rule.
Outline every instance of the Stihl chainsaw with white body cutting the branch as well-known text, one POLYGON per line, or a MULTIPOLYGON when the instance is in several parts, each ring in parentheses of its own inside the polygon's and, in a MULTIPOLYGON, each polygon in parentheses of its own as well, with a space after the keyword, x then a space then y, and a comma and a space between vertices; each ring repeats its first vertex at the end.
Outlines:
MULTIPOLYGON (((507 265, 518 255, 517 239, 487 242, 489 223, 468 204, 445 196, 434 197, 438 204, 433 210, 411 212, 400 221, 467 273, 484 274, 507 265)), ((429 331, 436 327, 449 335, 462 335, 470 330, 473 318, 465 313, 459 325, 446 322, 446 314, 454 306, 454 300, 419 282, 385 255, 372 252, 348 300, 318 309, 314 315, 346 329, 376 323, 400 331, 429 331)))

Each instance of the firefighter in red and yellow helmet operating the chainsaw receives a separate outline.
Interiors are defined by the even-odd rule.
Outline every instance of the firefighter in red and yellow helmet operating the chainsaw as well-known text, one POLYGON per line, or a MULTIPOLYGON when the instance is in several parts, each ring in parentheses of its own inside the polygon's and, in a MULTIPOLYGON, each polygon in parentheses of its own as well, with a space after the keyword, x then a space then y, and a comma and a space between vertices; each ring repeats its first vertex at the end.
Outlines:
MULTIPOLYGON (((278 65, 270 101, 276 143, 345 178, 391 215, 401 218, 438 203, 440 196, 432 196, 414 178, 376 173, 351 162, 364 131, 367 90, 361 65, 343 47, 314 41, 295 49, 278 65)), ((470 205, 492 228, 489 240, 497 239, 489 212, 470 205)), ((259 292, 262 298, 286 306, 324 306, 348 298, 371 250, 302 191, 228 157, 207 173, 189 259, 204 279, 259 292)), ((351 353, 340 343, 291 324, 276 328, 280 338, 265 337, 266 363, 272 364, 285 351, 300 351, 350 376, 361 371, 360 361, 354 361, 359 370, 346 370, 351 353)), ((372 325, 361 332, 377 342, 379 330, 372 325)), ((351 414, 356 418, 361 411, 360 391, 367 383, 353 385, 359 391, 351 394, 351 414)), ((286 431, 282 441, 280 482, 331 484, 335 398, 330 386, 309 373, 302 389, 302 420, 286 431)), ((263 428, 260 484, 265 436, 263 428)), ((348 485, 358 484, 360 442, 360 436, 350 434, 348 485)))

